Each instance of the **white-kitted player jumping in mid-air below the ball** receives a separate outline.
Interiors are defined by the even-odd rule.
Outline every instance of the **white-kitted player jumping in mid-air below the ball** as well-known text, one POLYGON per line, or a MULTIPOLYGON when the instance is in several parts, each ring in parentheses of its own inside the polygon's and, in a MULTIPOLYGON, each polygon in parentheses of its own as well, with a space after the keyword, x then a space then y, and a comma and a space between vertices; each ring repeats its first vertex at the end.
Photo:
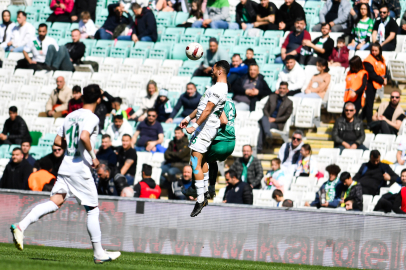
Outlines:
POLYGON ((191 217, 197 216, 207 205, 206 196, 208 194, 209 172, 205 160, 205 154, 212 141, 217 136, 220 127, 220 115, 223 112, 224 104, 227 100, 228 86, 227 74, 230 71, 230 65, 227 61, 218 61, 212 69, 212 78, 215 85, 206 90, 200 99, 197 110, 180 123, 181 128, 186 128, 186 132, 193 134, 189 142, 189 148, 192 150, 190 163, 195 177, 195 186, 197 190, 197 202, 190 214, 191 217), (196 116, 196 123, 187 128, 190 120, 196 116), (206 196, 205 196, 205 193, 206 196))

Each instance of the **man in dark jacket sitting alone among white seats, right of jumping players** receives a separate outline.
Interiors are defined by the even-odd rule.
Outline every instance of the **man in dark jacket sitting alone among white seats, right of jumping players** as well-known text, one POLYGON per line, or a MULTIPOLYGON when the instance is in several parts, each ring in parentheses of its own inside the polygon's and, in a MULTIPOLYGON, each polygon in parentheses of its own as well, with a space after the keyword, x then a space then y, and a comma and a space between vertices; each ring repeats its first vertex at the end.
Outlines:
POLYGON ((264 139, 271 139, 271 129, 283 130, 286 121, 292 115, 293 102, 287 97, 289 93, 288 83, 281 82, 276 95, 270 95, 266 102, 263 113, 264 116, 259 121, 259 136, 257 152, 262 151, 264 139))

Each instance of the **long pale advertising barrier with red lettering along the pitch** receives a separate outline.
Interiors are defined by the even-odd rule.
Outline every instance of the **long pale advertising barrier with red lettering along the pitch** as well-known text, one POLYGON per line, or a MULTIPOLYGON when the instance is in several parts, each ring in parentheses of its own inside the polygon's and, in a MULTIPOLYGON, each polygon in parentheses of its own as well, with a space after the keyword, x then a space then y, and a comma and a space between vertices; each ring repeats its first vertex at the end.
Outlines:
MULTIPOLYGON (((49 193, 0 189, 0 242, 49 193)), ((216 204, 191 218, 190 202, 100 196, 104 248, 369 269, 405 269, 402 215, 216 204)), ((25 231, 25 244, 91 248, 86 212, 68 199, 25 231)), ((29 248, 29 247, 28 247, 29 248)))

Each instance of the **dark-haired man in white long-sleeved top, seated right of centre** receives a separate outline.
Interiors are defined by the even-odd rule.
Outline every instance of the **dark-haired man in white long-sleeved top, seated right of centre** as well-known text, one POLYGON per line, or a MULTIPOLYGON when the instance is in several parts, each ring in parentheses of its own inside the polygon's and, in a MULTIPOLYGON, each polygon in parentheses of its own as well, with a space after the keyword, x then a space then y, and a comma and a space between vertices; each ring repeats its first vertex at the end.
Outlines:
POLYGON ((306 83, 306 75, 293 55, 286 56, 285 68, 279 72, 278 80, 276 81, 276 89, 279 89, 281 82, 287 82, 289 84, 288 96, 294 96, 302 92, 302 87, 306 83))

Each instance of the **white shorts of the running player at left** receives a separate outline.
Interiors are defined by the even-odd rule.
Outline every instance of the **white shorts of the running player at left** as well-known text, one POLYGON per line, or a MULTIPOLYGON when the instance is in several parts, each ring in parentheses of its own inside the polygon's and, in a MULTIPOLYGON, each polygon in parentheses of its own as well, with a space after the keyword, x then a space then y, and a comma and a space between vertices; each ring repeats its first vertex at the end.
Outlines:
POLYGON ((65 200, 69 197, 76 197, 80 205, 90 207, 99 205, 97 188, 93 178, 83 178, 80 175, 58 175, 51 196, 61 193, 66 193, 65 200))

